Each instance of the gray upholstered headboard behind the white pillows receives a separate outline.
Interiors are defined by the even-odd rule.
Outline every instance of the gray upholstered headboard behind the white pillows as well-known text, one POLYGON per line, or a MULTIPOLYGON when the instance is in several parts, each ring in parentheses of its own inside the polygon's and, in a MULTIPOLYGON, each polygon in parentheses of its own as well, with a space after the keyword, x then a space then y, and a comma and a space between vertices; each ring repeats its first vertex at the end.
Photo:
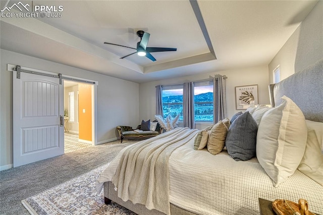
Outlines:
POLYGON ((269 86, 272 106, 291 98, 302 110, 305 119, 323 122, 323 59, 314 65, 269 86))

